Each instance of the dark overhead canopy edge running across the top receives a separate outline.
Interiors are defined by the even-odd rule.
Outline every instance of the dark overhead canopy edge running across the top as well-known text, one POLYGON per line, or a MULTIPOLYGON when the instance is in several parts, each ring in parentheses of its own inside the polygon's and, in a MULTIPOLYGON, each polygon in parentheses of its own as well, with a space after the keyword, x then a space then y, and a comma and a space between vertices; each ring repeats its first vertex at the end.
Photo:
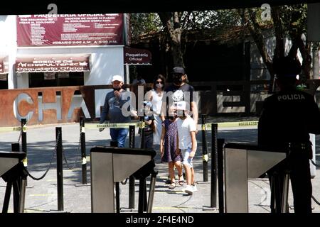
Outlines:
POLYGON ((158 11, 197 11, 209 9, 236 9, 247 7, 260 7, 262 4, 272 5, 287 5, 287 4, 301 4, 314 3, 319 0, 198 0, 183 1, 183 0, 117 0, 117 1, 63 1, 56 0, 52 6, 52 1, 31 0, 19 1, 17 6, 16 1, 7 1, 1 6, 0 14, 48 14, 55 9, 60 13, 130 13, 130 12, 158 12, 158 11))

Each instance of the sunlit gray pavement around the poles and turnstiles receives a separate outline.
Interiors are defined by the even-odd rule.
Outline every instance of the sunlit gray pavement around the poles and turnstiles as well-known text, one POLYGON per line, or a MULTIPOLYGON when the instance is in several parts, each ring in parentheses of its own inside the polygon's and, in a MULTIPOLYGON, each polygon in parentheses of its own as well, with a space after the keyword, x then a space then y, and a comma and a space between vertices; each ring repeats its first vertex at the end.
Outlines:
MULTIPOLYGON (((211 119, 209 119, 211 120, 211 119)), ((245 121, 248 118, 217 118, 215 122, 222 121, 245 121)), ((255 120, 250 118, 249 120, 255 120)), ((68 160, 68 165, 63 162, 63 194, 65 212, 71 213, 90 213, 90 184, 82 185, 82 172, 80 163, 80 146, 79 146, 79 125, 78 123, 66 123, 63 125, 50 126, 29 126, 27 131, 28 143, 28 171, 34 177, 40 177, 47 170, 53 151, 55 149, 55 127, 62 127, 63 150, 68 160), (71 168, 69 168, 71 167, 71 168)), ((0 133, 0 149, 4 151, 11 150, 11 143, 16 143, 19 132, 0 133)), ((87 157, 90 156, 90 148, 95 145, 109 145, 110 133, 106 129, 101 133, 97 129, 86 129, 86 147, 87 157)), ((211 134, 207 131, 208 153, 210 158, 211 134)), ((227 142, 257 142, 256 128, 221 128, 218 130, 218 138, 225 138, 227 142)), ((181 187, 174 190, 168 189, 166 184, 168 176, 167 164, 159 161, 159 154, 156 155, 156 170, 159 175, 156 179, 156 189, 154 194, 154 213, 218 213, 216 209, 210 207, 210 159, 208 162, 208 182, 203 182, 203 165, 202 165, 202 144, 201 132, 197 135, 198 150, 194 160, 196 172, 196 181, 198 182, 198 192, 192 196, 186 195, 181 191, 181 187)), ((139 135, 136 132, 136 147, 139 147, 139 135)), ((316 136, 317 144, 320 145, 320 136, 316 136)), ((128 143, 128 141, 127 141, 128 143)), ((158 150, 156 147, 155 150, 158 150)), ((320 149, 317 151, 317 160, 320 161, 320 149)), ((87 182, 90 183, 90 159, 87 159, 87 182)), ((57 177, 56 177, 55 157, 52 166, 46 177, 40 181, 35 181, 28 177, 28 187, 26 189, 26 213, 43 213, 57 212, 57 177)), ((313 194, 316 199, 320 200, 320 170, 316 170, 316 177, 312 179, 313 194)), ((139 181, 135 185, 135 207, 138 206, 139 181)), ((149 186, 149 178, 147 179, 149 186)), ((267 179, 250 179, 249 188, 249 211, 252 213, 270 212, 270 187, 267 179)), ((0 180, 0 206, 3 204, 6 182, 0 180)), ((129 206, 129 186, 120 184, 120 207, 121 212, 131 212, 129 206)), ((148 187, 149 189, 149 187, 148 187)), ((289 206, 293 206, 292 192, 289 189, 289 206)), ((320 213, 320 206, 313 201, 314 212, 320 213)), ((13 211, 12 196, 9 212, 13 211)), ((134 211, 137 212, 137 211, 134 211)), ((293 209, 290 209, 293 212, 293 209)))

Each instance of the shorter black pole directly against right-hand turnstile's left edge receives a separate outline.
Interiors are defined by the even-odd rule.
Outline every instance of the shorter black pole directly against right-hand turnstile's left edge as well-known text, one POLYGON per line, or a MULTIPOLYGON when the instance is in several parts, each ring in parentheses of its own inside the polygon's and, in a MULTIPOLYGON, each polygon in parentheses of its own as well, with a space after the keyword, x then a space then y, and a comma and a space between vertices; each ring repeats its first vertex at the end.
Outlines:
POLYGON ((225 213, 225 201, 223 192, 223 144, 225 139, 218 139, 218 195, 219 213, 225 213))

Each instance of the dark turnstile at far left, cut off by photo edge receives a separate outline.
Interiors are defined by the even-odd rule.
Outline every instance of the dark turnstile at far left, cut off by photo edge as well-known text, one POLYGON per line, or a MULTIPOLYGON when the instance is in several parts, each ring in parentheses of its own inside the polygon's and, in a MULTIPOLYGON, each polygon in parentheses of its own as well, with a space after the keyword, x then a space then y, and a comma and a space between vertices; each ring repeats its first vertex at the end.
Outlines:
POLYGON ((21 161, 25 157, 24 152, 0 151, 0 177, 6 182, 2 213, 8 212, 12 187, 14 188, 14 213, 23 213, 27 175, 21 161))

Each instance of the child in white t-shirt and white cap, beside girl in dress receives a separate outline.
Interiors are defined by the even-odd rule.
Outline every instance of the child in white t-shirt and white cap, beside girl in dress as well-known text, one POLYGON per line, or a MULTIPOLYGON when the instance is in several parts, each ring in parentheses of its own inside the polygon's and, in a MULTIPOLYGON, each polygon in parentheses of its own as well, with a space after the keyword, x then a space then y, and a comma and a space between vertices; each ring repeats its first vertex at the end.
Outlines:
POLYGON ((178 114, 178 146, 176 153, 182 153, 183 155, 183 167, 186 172, 186 187, 183 192, 188 194, 193 194, 196 189, 194 184, 194 169, 192 160, 196 154, 197 150, 197 140, 196 140, 196 123, 193 121, 190 115, 188 115, 188 110, 186 109, 186 101, 179 101, 176 104, 176 110, 178 114))

